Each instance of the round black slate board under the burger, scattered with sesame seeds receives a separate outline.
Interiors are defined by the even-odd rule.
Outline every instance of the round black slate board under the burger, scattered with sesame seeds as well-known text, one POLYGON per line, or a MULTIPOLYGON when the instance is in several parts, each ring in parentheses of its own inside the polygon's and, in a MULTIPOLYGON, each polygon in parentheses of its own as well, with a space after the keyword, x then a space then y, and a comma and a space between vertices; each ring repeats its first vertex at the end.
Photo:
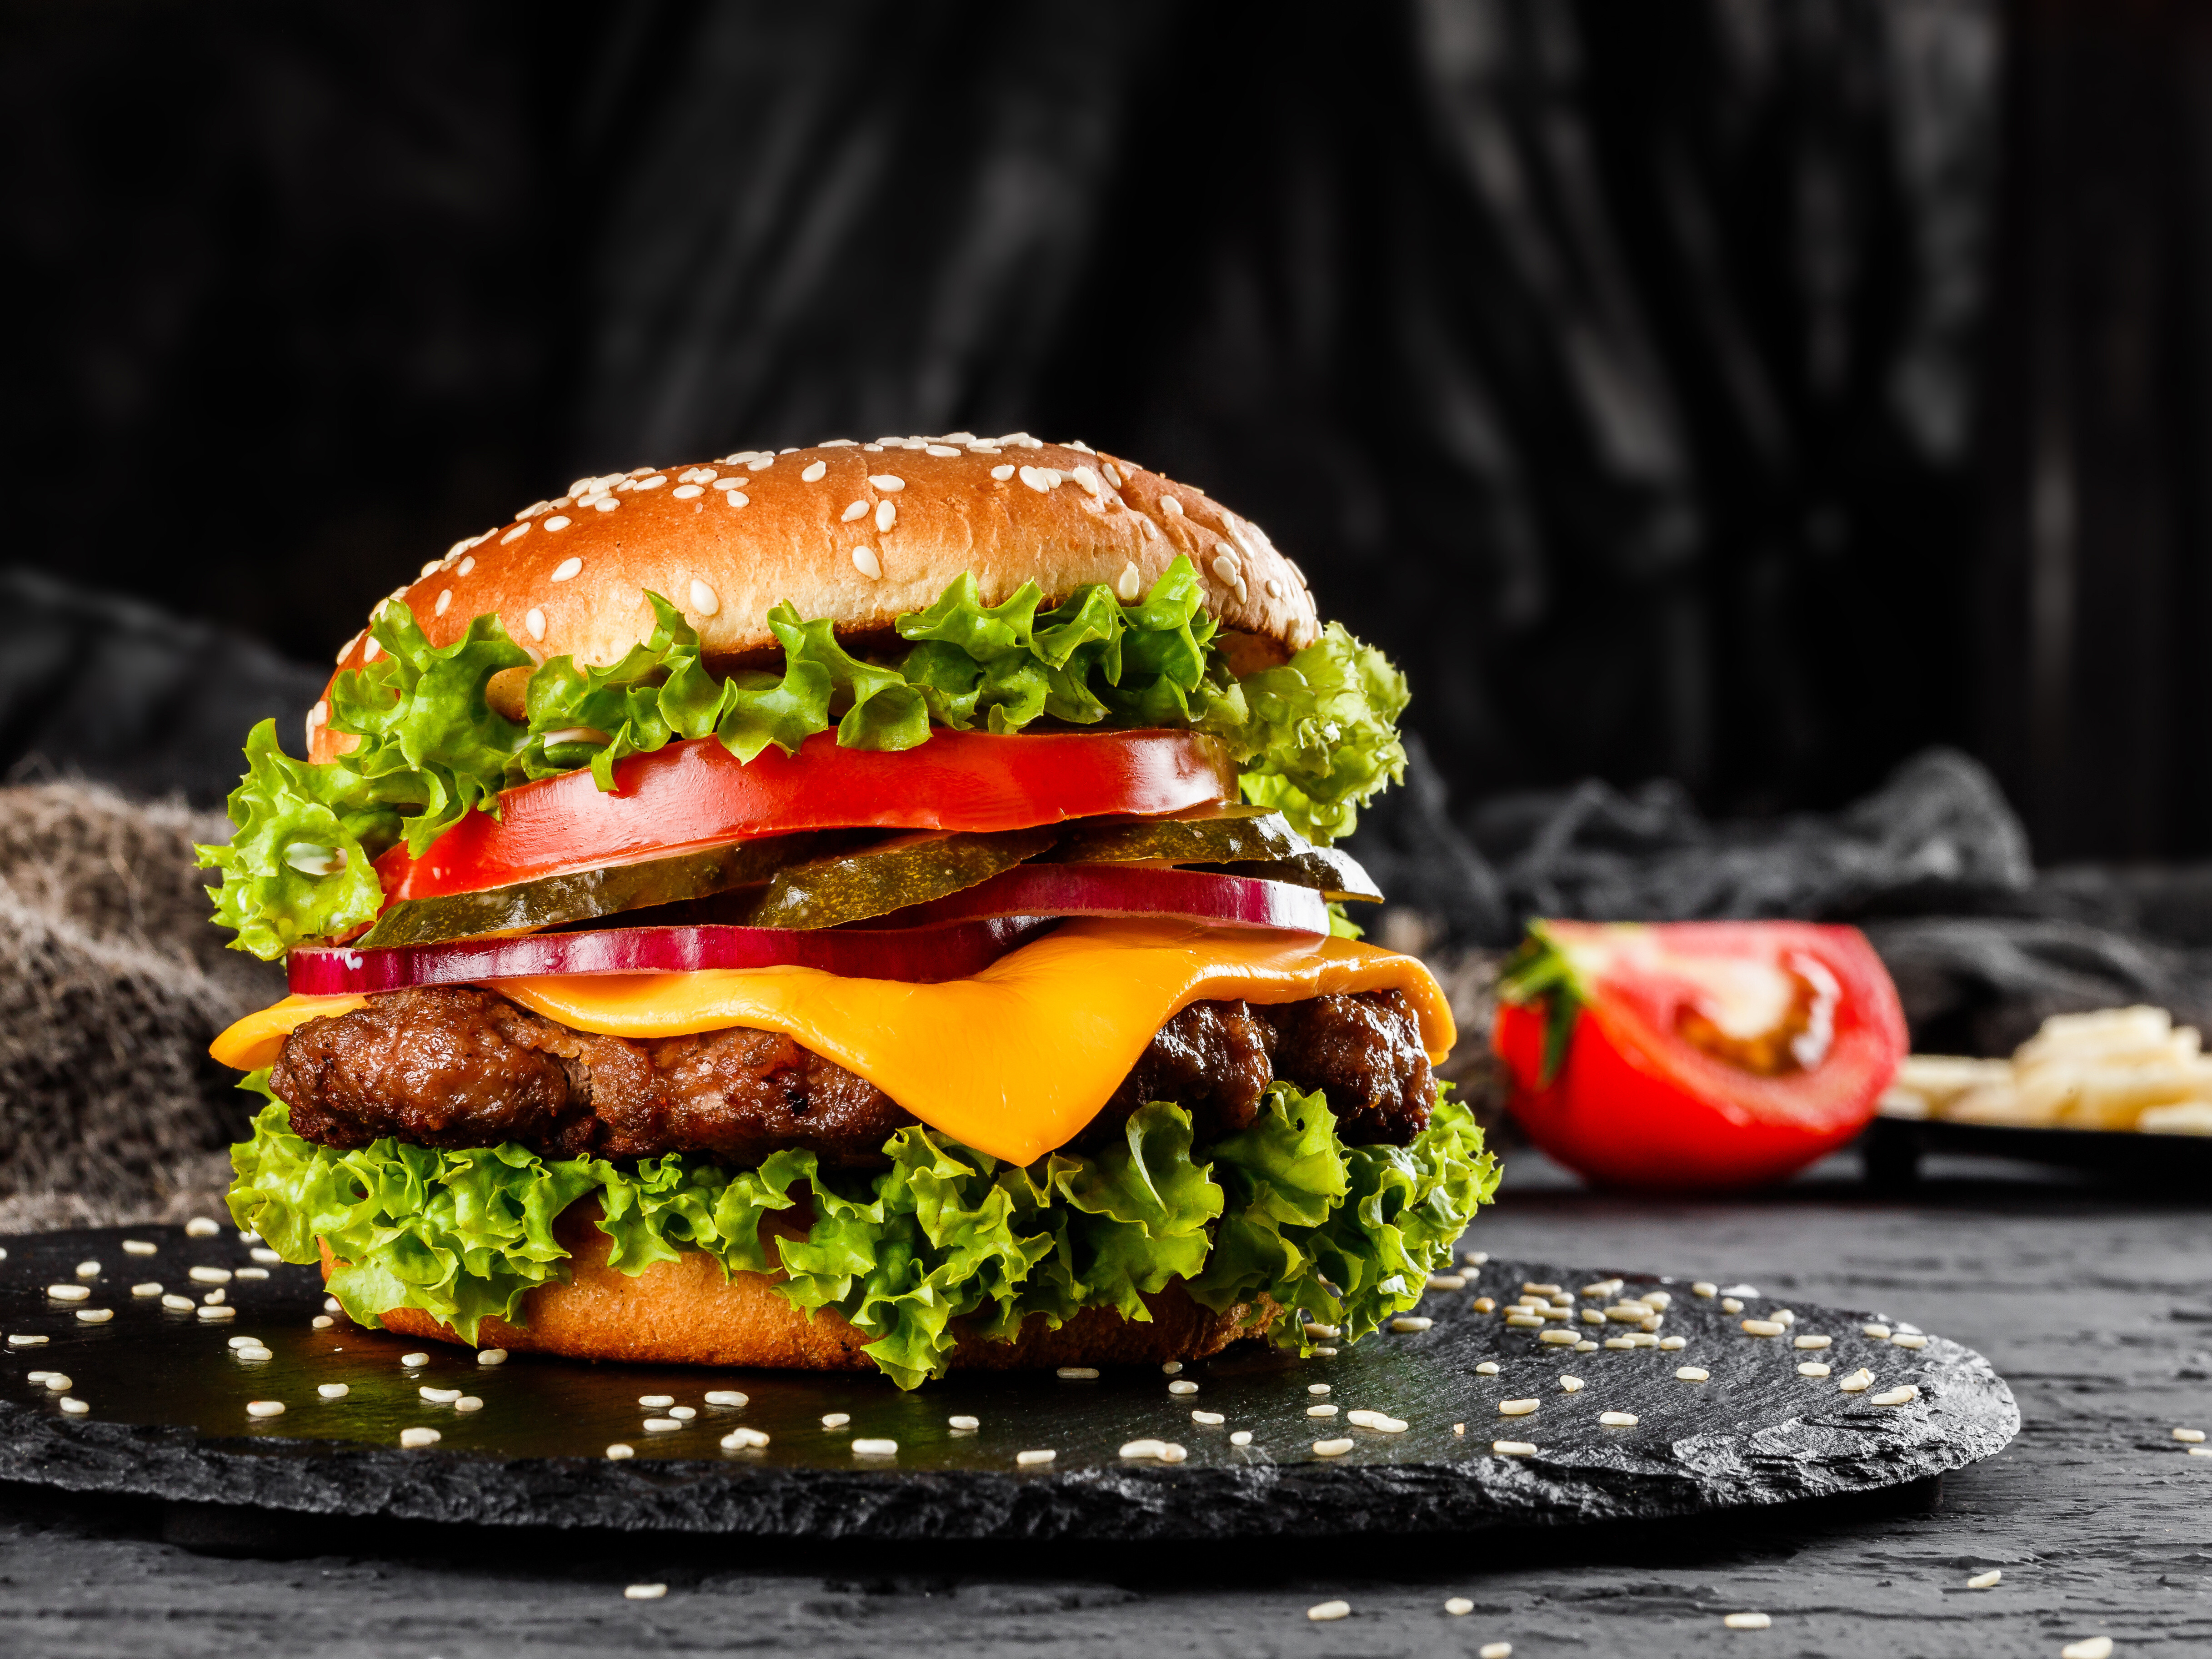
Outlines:
MULTIPOLYGON (((192 1265, 241 1267, 232 1230, 186 1239, 181 1228, 51 1232, 9 1241, 0 1263, 0 1329, 44 1334, 40 1347, 0 1349, 0 1480, 71 1491, 254 1504, 325 1515, 480 1522, 504 1526, 608 1526, 750 1533, 774 1537, 1296 1537, 1436 1533, 1655 1520, 1723 1509, 1867 1493, 1940 1475, 2000 1451, 2020 1429, 2011 1389, 1989 1363, 1929 1338, 1918 1352, 1865 1338, 1876 1314, 1798 1305, 1796 1334, 1825 1332, 1834 1347, 1807 1356, 1743 1336, 1739 1316, 1688 1285, 1628 1276, 1674 1292, 1668 1334, 1688 1349, 1537 1345, 1475 1314, 1478 1294, 1511 1298, 1522 1281, 1579 1287, 1601 1274, 1531 1263, 1489 1263, 1467 1290, 1433 1292, 1433 1327, 1378 1334, 1336 1358, 1296 1360, 1259 1345, 1194 1365, 1197 1394, 1168 1391, 1157 1369, 1108 1371, 1095 1383, 1055 1376, 951 1378, 898 1394, 880 1378, 686 1367, 577 1365, 524 1354, 480 1367, 465 1349, 365 1332, 343 1316, 327 1329, 312 1270, 274 1265, 265 1281, 226 1287, 234 1321, 166 1312, 131 1294, 135 1281, 173 1292, 192 1265), (153 1256, 128 1256, 122 1239, 146 1239, 153 1256), (80 1279, 97 1261, 97 1279, 80 1279), (62 1303, 46 1285, 86 1283, 86 1303, 62 1303), (111 1307, 86 1325, 75 1307, 111 1307), (259 1336, 272 1360, 239 1360, 230 1336, 259 1336), (407 1369, 403 1354, 429 1352, 407 1369), (1796 1365, 1820 1358, 1825 1380, 1796 1365), (1500 1376, 1475 1365, 1498 1360, 1500 1376), (1701 1365, 1710 1383, 1674 1380, 1701 1365), (1836 1389, 1858 1365, 1880 1387, 1916 1383, 1907 1407, 1874 1407, 1836 1389), (62 1371, 69 1416, 29 1371, 62 1371), (1586 1380, 1559 1389, 1559 1374, 1586 1380), (316 1396, 347 1383, 343 1400, 316 1396), (1327 1400, 1387 1411, 1405 1433, 1343 1427, 1307 1416, 1310 1387, 1327 1400), (460 1387, 484 1400, 458 1413, 418 1389, 460 1387), (741 1389, 743 1409, 708 1407, 706 1389, 741 1389), (670 1394, 699 1416, 681 1431, 648 1433, 639 1396, 670 1394), (1502 1418, 1498 1402, 1537 1398, 1535 1416, 1502 1418), (248 1400, 283 1400, 281 1418, 254 1420, 248 1400), (1192 1422, 1192 1409, 1228 1422, 1192 1422), (825 1413, 852 1422, 825 1429, 825 1413), (1601 1411, 1632 1411, 1635 1429, 1604 1429, 1601 1411), (975 1416, 958 1433, 951 1416, 975 1416), (1464 1422, 1467 1433, 1453 1433, 1464 1422), (436 1449, 398 1449, 400 1429, 436 1427, 436 1449), (730 1427, 770 1436, 768 1449, 723 1451, 730 1427), (1250 1429, 1254 1442, 1230 1444, 1250 1429), (896 1458, 858 1458, 852 1440, 891 1438, 896 1458), (1128 1440, 1188 1447, 1188 1462, 1124 1462, 1128 1440), (1352 1438, 1343 1458, 1316 1458, 1323 1438, 1352 1438), (1506 1458, 1491 1440, 1524 1440, 1533 1458, 1506 1458), (608 1460, 626 1442, 637 1455, 608 1460), (1048 1469, 1018 1469, 1015 1453, 1051 1447, 1048 1469)), ((1747 1301, 1745 1314, 1778 1303, 1747 1301)), ((1610 1334, 1617 1334, 1613 1327, 1610 1334)), ((1595 1336, 1608 1332, 1593 1329, 1595 1336)))

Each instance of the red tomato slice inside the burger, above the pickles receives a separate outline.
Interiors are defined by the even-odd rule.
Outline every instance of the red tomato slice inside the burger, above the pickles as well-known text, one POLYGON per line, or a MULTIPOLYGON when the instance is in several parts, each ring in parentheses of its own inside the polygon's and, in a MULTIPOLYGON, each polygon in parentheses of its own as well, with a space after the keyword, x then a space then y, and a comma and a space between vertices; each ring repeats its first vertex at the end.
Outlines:
POLYGON ((613 794, 591 772, 507 790, 498 818, 471 812, 376 874, 387 900, 438 898, 792 830, 1029 830, 1234 799, 1228 750, 1197 732, 931 732, 898 752, 818 732, 752 761, 708 737, 617 761, 613 794))

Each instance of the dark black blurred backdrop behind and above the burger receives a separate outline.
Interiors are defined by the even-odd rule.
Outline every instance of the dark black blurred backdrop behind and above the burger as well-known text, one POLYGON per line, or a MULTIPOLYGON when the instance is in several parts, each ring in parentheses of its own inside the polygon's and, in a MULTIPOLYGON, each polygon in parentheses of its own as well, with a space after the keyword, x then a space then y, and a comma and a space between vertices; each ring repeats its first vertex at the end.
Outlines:
POLYGON ((1949 743, 2197 856, 2208 234, 2185 0, 11 0, 0 761, 212 801, 575 473, 1026 427, 1259 518, 1455 803, 1949 743))

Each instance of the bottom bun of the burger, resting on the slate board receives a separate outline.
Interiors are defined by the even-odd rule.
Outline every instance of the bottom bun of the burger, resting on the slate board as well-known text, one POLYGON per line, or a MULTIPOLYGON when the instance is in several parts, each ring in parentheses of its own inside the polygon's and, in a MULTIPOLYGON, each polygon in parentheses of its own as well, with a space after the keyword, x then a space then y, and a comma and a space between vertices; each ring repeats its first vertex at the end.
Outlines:
MULTIPOLYGON (((779 1274, 721 1267, 701 1250, 675 1261, 657 1261, 630 1276, 606 1265, 613 1239, 595 1223, 593 1201, 568 1208, 553 1237, 568 1250, 566 1285, 542 1285, 522 1298, 522 1325, 504 1318, 478 1323, 476 1347, 518 1354, 562 1354, 577 1360, 637 1360, 655 1365, 759 1365, 787 1371, 874 1371, 863 1354, 872 1338, 854 1329, 834 1307, 807 1314, 774 1294, 779 1274)), ((323 1279, 338 1259, 323 1245, 323 1279)), ((1181 1279, 1146 1296, 1152 1321, 1139 1325, 1110 1307, 1086 1307, 1060 1329, 1042 1314, 1022 1325, 1011 1343, 993 1343, 962 1332, 953 1367, 1013 1371, 1053 1365, 1159 1365, 1219 1354, 1243 1336, 1261 1336, 1283 1310, 1267 1296, 1223 1312, 1190 1301, 1181 1279)), ((451 1325, 420 1307, 394 1307, 383 1316, 387 1332, 462 1343, 451 1325)), ((467 1343, 462 1343, 467 1347, 467 1343)))

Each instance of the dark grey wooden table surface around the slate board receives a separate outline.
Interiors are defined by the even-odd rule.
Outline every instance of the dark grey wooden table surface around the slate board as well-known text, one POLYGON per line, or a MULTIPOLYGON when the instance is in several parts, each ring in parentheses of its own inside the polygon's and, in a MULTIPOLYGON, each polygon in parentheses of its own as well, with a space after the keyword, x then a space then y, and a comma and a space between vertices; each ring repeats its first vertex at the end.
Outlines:
POLYGON ((1469 1243, 1878 1303, 1989 1354, 2020 1440, 1933 1509, 1119 1555, 303 1528, 0 1486, 0 1652, 2212 1655, 2212 1458, 2172 1440, 2212 1429, 2212 1192, 1938 1161, 1893 1201, 1834 1159, 1778 1197, 1679 1203, 1511 1170, 1469 1243), (1986 1568, 2004 1582, 1969 1590, 1986 1568), (624 1599, 639 1582, 668 1593, 624 1599), (1307 1621, 1336 1597, 1349 1619, 1307 1621), (1725 1630, 1736 1610, 1772 1628, 1725 1630))

